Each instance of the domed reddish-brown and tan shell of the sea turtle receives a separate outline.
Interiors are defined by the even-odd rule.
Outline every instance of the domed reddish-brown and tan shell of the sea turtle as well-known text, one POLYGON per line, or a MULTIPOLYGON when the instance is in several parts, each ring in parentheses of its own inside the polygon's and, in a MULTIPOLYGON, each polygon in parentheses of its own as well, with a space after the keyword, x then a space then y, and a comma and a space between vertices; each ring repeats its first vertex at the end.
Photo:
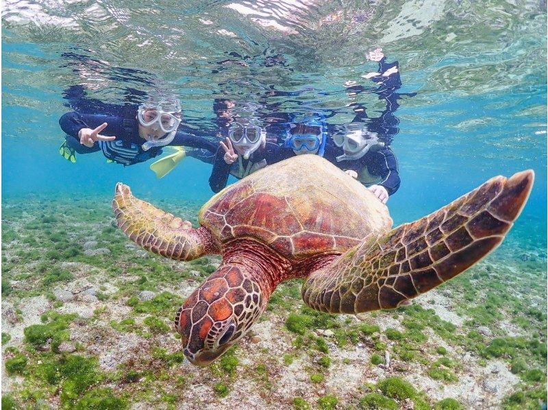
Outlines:
POLYGON ((203 206, 199 222, 221 243, 251 237, 288 258, 345 252, 392 227, 384 204, 316 155, 290 158, 229 186, 203 206))

